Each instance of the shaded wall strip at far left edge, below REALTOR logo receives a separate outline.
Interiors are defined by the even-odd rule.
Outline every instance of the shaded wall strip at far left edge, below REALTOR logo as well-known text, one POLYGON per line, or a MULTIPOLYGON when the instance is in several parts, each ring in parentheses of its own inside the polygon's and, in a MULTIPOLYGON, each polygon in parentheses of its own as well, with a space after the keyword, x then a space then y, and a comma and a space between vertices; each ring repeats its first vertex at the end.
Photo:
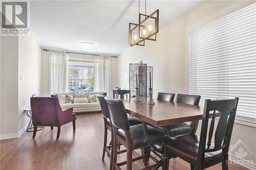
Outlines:
POLYGON ((1 36, 1 138, 18 132, 18 36, 1 36))

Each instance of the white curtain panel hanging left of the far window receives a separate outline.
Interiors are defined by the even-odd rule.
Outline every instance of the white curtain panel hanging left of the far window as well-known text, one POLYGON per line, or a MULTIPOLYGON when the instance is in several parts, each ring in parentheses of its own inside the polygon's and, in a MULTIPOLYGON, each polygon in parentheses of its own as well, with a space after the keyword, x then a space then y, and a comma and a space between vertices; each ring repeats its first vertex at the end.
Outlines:
POLYGON ((65 93, 68 89, 68 54, 65 52, 50 52, 50 91, 65 93))

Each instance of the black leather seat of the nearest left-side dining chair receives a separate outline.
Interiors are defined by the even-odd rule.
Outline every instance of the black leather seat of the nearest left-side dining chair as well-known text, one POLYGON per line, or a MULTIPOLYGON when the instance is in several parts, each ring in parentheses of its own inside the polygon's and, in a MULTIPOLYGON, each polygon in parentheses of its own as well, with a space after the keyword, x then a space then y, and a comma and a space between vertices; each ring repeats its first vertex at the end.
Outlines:
MULTIPOLYGON (((164 139, 167 138, 167 135, 163 131, 155 127, 147 126, 147 132, 154 144, 161 143, 164 139)), ((119 129, 117 133, 122 138, 125 138, 123 130, 119 129)), ((133 149, 145 147, 148 145, 146 137, 144 136, 144 133, 143 133, 142 124, 131 126, 130 133, 131 133, 133 149)))

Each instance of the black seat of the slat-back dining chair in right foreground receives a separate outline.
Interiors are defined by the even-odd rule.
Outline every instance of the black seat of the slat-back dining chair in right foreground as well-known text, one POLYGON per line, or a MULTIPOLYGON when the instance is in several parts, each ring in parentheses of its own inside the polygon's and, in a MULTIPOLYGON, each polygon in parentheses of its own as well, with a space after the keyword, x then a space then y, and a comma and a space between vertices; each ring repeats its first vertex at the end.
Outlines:
MULTIPOLYGON (((167 147, 168 154, 172 154, 168 148, 175 148, 183 153, 191 155, 191 158, 197 158, 198 156, 198 147, 199 147, 200 136, 194 135, 192 133, 172 137, 164 140, 163 144, 167 147)), ((211 143, 211 146, 214 147, 214 143, 211 143)), ((207 142, 206 142, 207 148, 207 142)), ((216 152, 205 153, 204 158, 206 161, 216 158, 218 156, 222 156, 222 150, 216 152)))

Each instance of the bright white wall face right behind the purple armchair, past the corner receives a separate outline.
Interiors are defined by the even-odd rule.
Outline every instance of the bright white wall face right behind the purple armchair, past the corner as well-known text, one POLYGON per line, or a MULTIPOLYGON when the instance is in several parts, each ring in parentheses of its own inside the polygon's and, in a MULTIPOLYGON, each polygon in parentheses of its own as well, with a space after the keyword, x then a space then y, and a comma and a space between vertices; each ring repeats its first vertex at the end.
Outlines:
POLYGON ((32 94, 40 96, 41 88, 41 48, 33 36, 18 39, 18 76, 18 131, 23 131, 29 123, 24 109, 30 108, 32 94))

